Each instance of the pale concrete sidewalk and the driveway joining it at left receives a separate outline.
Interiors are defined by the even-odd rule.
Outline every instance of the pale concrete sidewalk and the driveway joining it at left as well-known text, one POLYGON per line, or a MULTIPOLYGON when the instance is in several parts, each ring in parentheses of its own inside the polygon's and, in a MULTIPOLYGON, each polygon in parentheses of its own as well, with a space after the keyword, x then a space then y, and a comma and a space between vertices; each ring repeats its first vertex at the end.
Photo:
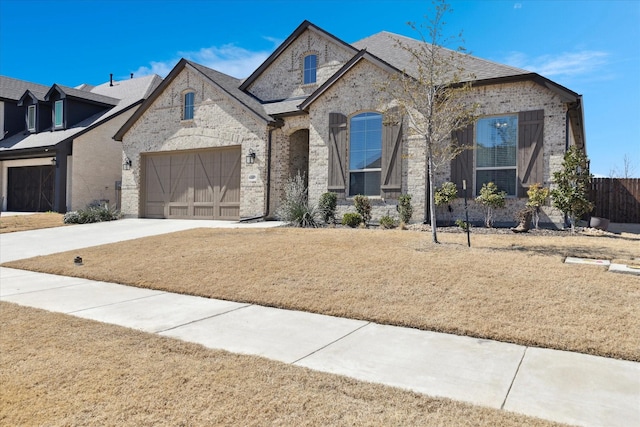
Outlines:
MULTIPOLYGON (((2 235, 2 260, 205 226, 187 222, 12 233, 12 244, 2 235)), ((260 225, 272 224, 250 226, 260 225)), ((635 362, 8 268, 0 300, 563 423, 640 425, 635 362)))

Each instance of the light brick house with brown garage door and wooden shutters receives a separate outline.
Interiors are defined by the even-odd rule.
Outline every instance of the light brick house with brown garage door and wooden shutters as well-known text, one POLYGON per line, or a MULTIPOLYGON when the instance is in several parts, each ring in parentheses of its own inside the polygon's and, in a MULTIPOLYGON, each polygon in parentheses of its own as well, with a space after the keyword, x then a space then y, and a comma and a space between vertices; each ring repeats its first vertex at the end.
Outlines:
MULTIPOLYGON (((397 40, 420 43, 381 32, 349 44, 305 21, 245 80, 181 60, 115 135, 131 163, 122 176, 123 212, 274 217, 287 180, 300 173, 311 203, 335 192, 342 214, 353 210, 353 196, 367 195, 375 220, 395 214, 398 196, 410 194, 413 221, 425 220, 424 140, 406 120, 384 120, 376 89, 411 68, 397 40)), ((439 170, 435 184, 453 181, 462 197, 464 180, 472 198, 496 182, 509 196, 496 222, 513 221, 527 187, 550 186, 566 149, 585 148, 582 98, 536 73, 464 61, 475 76, 468 96, 479 118, 457 138, 481 149, 439 170)), ((481 220, 480 209, 470 209, 481 220)), ((562 221, 543 210, 541 222, 562 221)))

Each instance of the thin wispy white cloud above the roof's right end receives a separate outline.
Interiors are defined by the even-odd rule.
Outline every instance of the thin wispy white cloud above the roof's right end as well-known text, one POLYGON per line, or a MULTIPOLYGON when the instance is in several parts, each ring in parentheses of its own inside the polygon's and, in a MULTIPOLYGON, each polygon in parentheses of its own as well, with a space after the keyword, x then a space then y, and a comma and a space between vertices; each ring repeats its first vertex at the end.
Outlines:
POLYGON ((513 52, 506 63, 525 70, 534 71, 545 77, 574 77, 592 73, 607 63, 606 52, 583 50, 565 52, 557 55, 543 55, 529 58, 521 52, 513 52))

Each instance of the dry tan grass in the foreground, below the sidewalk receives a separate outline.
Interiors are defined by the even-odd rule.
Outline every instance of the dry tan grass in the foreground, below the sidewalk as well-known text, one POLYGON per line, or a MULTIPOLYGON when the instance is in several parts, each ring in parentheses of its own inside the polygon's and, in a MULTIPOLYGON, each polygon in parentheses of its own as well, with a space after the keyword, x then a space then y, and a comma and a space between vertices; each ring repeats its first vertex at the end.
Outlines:
POLYGON ((0 303, 0 425, 550 422, 0 303))

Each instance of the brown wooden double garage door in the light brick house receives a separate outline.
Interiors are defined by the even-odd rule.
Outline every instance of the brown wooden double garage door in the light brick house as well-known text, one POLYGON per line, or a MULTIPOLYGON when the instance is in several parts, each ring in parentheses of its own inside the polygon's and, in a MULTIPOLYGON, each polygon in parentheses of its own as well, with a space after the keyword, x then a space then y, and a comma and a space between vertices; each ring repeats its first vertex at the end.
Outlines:
POLYGON ((143 159, 147 218, 240 219, 240 147, 143 159))

